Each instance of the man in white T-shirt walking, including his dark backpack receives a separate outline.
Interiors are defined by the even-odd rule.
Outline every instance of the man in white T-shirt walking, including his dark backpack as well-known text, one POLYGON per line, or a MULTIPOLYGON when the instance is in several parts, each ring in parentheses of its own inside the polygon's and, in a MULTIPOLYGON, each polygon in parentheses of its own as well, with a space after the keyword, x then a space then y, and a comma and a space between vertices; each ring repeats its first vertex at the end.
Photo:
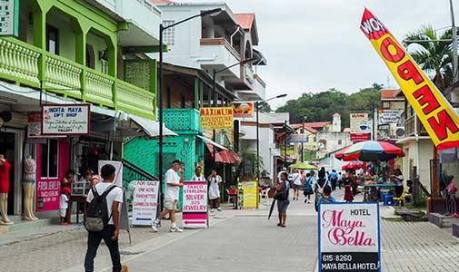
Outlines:
POLYGON ((117 187, 115 167, 105 164, 101 169, 104 179, 93 187, 87 194, 85 228, 88 230, 85 271, 94 271, 94 258, 102 239, 110 251, 113 271, 122 271, 120 253, 118 250, 119 210, 123 203, 123 190, 117 187))

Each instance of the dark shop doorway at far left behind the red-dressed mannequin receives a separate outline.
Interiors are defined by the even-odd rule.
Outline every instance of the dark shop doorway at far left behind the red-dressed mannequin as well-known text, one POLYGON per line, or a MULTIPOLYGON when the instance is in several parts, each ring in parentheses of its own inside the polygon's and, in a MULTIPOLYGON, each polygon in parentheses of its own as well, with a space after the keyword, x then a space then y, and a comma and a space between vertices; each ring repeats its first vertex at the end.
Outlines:
POLYGON ((8 214, 15 209, 15 133, 0 131, 0 154, 11 164, 9 170, 8 214))

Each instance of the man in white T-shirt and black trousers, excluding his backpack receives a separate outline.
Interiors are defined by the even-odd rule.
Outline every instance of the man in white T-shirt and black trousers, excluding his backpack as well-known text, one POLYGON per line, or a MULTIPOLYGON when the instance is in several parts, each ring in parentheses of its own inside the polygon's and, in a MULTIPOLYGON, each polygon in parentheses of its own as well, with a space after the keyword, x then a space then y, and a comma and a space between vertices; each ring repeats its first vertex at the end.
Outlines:
MULTIPOLYGON (((85 271, 94 271, 94 258, 99 248, 100 242, 104 239, 105 246, 110 252, 114 272, 124 271, 121 267, 120 253, 118 249, 119 234, 119 211, 123 203, 123 190, 117 187, 113 182, 115 180, 115 166, 105 164, 101 169, 103 182, 98 183, 87 194, 86 201, 90 203, 93 199, 99 199, 99 196, 105 195, 107 208, 107 221, 104 228, 99 231, 88 231, 87 250, 85 257, 85 271), (96 195, 95 195, 96 194, 96 195)), ((96 204, 95 204, 96 205, 96 204)))

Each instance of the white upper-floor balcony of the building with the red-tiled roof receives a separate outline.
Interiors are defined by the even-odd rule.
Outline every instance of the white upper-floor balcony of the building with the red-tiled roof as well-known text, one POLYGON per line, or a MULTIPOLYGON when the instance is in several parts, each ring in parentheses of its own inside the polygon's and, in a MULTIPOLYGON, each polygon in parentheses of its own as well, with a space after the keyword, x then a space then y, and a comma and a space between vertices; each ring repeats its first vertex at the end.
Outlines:
MULTIPOLYGON (((199 63, 205 70, 220 70, 241 62, 241 55, 225 38, 202 38, 200 44, 202 59, 199 63)), ((235 65, 219 75, 225 76, 225 80, 238 79, 241 75, 241 66, 235 65)))

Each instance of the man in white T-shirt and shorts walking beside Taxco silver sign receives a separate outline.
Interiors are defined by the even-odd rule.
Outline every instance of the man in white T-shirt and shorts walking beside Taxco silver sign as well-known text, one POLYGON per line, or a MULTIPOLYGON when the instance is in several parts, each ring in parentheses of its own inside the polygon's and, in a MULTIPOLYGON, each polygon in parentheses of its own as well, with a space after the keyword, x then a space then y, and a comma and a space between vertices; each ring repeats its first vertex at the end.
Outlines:
POLYGON ((178 194, 180 187, 184 187, 184 170, 182 169, 182 161, 174 160, 171 169, 165 173, 165 210, 163 210, 157 219, 152 223, 154 232, 158 232, 158 227, 161 226, 161 219, 169 214, 171 219, 171 232, 182 232, 182 228, 175 225, 175 209, 178 203, 178 194), (180 172, 180 176, 177 174, 180 172))

